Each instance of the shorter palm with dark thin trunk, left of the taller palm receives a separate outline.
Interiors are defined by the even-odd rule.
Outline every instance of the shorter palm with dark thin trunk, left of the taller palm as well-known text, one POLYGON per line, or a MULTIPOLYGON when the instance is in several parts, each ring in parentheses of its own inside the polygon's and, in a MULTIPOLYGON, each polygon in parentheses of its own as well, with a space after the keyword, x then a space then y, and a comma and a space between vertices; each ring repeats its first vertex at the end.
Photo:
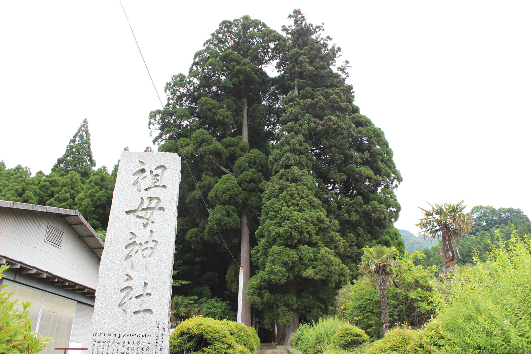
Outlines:
POLYGON ((387 284, 393 281, 400 268, 400 263, 396 260, 398 250, 395 247, 377 245, 363 248, 365 254, 362 262, 358 264, 358 269, 362 274, 369 277, 372 283, 377 282, 380 289, 380 304, 382 307, 382 329, 386 335, 389 329, 389 315, 387 312, 387 284))

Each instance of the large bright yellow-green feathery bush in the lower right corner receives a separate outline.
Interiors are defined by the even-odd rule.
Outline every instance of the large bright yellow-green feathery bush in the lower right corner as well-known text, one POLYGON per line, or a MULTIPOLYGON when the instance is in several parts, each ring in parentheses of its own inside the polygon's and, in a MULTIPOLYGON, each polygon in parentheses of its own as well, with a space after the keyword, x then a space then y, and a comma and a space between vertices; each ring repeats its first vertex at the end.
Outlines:
POLYGON ((531 352, 531 239, 512 232, 508 241, 496 232, 487 262, 476 257, 455 275, 446 298, 437 297, 442 352, 531 352))

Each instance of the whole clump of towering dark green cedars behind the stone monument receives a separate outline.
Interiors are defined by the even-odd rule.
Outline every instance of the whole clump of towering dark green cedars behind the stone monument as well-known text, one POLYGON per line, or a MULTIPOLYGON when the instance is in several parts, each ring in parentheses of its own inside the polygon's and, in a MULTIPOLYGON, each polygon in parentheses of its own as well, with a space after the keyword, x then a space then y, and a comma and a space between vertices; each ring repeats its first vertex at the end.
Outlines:
POLYGON ((250 298, 276 297, 254 302, 268 324, 296 326, 298 312, 329 312, 345 275, 357 273, 364 246, 403 251, 404 244, 392 226, 401 176, 383 132, 353 104, 352 86, 342 76, 348 63, 338 68, 340 49, 321 36, 322 26, 299 10, 289 17, 287 37, 249 16, 221 22, 189 73, 167 83, 165 109, 151 112, 149 124, 159 151, 186 159, 174 291, 235 301, 238 267, 226 245, 246 276, 258 276, 250 298), (275 62, 279 75, 271 78, 264 68, 275 62), (279 215, 282 203, 288 209, 279 215), (273 232, 280 222, 287 226, 273 232), (252 246, 258 269, 246 263, 252 246), (266 266, 299 259, 298 252, 305 255, 300 264, 282 275, 266 266), (326 281, 316 270, 325 259, 331 266, 326 281), (319 281, 322 291, 307 290, 306 282, 319 281), (277 311, 275 301, 282 304, 277 311))

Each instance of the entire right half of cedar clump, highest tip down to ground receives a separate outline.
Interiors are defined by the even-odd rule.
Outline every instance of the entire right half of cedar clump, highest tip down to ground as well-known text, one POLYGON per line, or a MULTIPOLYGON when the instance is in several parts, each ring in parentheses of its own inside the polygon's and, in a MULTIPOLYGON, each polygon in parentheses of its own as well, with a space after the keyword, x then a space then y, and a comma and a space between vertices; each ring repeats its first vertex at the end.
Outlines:
MULTIPOLYGON (((289 18, 293 25, 283 28, 289 47, 277 65, 289 93, 253 249, 259 271, 249 286, 268 325, 288 325, 286 343, 299 315, 326 313, 330 294, 356 272, 364 246, 404 250, 392 226, 400 209, 392 189, 401 176, 389 144, 359 114, 352 86, 333 72, 340 48, 329 46, 323 27, 307 23, 300 10, 289 18)), ((347 65, 338 71, 346 74, 347 65)))

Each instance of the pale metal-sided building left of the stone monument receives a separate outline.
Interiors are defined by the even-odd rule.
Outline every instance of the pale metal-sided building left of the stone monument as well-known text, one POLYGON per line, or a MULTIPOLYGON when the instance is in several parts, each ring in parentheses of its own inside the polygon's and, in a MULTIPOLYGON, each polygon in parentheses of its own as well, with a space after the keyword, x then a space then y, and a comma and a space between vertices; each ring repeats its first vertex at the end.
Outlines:
POLYGON ((103 248, 78 210, 0 200, 1 281, 31 301, 32 331, 54 338, 41 353, 87 348, 103 248))

